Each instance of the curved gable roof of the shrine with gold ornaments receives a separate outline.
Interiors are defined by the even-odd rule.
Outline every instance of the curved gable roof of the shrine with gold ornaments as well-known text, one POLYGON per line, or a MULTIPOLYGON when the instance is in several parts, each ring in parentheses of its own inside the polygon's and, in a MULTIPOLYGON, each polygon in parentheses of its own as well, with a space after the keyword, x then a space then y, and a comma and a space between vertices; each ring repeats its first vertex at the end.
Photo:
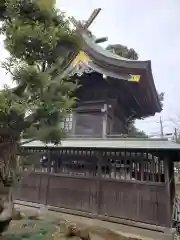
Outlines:
POLYGON ((61 77, 77 74, 79 71, 79 76, 84 72, 98 72, 109 78, 122 80, 121 83, 126 85, 125 87, 130 90, 128 92, 134 96, 133 98, 137 98, 138 104, 141 105, 140 116, 152 116, 162 110, 153 80, 151 61, 120 57, 96 44, 81 25, 77 26, 77 31, 83 39, 83 49, 80 53, 76 53, 76 57, 72 59, 61 77), (139 78, 134 80, 131 76, 139 76, 139 78), (138 85, 134 86, 134 84, 138 85))

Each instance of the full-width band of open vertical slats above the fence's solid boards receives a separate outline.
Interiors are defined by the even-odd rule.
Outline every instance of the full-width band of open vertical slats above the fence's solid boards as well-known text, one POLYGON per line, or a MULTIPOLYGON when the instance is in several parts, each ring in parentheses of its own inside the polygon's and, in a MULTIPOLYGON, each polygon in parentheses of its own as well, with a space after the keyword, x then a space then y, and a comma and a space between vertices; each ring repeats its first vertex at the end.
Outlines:
POLYGON ((38 172, 101 176, 117 181, 165 182, 164 160, 147 152, 61 149, 50 152, 50 155, 45 151, 37 157, 39 166, 35 170, 38 172))

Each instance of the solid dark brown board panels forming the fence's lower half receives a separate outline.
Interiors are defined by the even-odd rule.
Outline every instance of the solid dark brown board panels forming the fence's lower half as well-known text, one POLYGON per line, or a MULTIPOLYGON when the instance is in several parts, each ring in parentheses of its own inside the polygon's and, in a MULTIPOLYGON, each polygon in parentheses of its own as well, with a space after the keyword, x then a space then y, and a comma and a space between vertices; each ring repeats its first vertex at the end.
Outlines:
POLYGON ((168 227, 165 185, 33 173, 19 200, 168 227))

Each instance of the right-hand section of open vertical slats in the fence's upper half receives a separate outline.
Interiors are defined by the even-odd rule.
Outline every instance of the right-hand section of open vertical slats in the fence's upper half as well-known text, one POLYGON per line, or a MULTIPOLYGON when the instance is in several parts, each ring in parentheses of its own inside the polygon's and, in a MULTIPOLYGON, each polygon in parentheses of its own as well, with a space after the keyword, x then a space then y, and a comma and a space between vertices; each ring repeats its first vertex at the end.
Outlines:
POLYGON ((164 161, 143 152, 104 152, 102 177, 164 182, 164 161))

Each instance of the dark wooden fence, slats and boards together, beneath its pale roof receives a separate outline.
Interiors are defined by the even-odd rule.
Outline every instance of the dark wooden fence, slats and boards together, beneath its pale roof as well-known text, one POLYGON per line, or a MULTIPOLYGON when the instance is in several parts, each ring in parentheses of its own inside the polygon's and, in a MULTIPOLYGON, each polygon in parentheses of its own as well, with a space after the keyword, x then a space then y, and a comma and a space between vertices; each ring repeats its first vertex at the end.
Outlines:
POLYGON ((19 200, 170 227, 162 159, 82 150, 42 156, 41 168, 18 189, 19 200))

